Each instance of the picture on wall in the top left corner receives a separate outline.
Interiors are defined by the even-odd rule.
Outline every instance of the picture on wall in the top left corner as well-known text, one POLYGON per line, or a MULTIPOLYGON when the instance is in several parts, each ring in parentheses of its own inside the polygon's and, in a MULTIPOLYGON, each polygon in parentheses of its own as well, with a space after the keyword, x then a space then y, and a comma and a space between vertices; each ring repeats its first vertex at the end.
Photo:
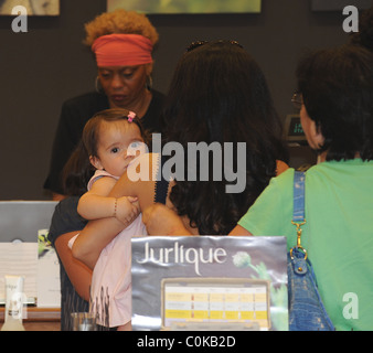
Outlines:
POLYGON ((0 15, 14 15, 23 7, 28 15, 60 15, 60 0, 0 0, 0 15))

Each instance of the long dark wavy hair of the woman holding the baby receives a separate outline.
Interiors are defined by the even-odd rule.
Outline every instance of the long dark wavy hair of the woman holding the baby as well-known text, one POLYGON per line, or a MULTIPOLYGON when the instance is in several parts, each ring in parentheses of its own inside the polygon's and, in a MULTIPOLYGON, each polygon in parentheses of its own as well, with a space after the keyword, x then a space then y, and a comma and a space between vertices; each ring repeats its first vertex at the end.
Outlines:
MULTIPOLYGON (((281 122, 262 69, 236 42, 198 45, 177 65, 163 119, 164 142, 178 141, 184 151, 188 142, 233 142, 234 171, 243 162, 236 158, 237 142, 246 142, 243 192, 226 193, 232 182, 222 170, 222 181, 212 181, 212 174, 209 181, 175 180, 170 193, 179 215, 186 215, 201 235, 228 234, 276 175, 276 161, 288 161, 281 122)), ((185 157, 186 173, 188 152, 185 157)), ((223 153, 223 169, 224 158, 223 153)), ((209 163, 212 171, 212 158, 209 163)))

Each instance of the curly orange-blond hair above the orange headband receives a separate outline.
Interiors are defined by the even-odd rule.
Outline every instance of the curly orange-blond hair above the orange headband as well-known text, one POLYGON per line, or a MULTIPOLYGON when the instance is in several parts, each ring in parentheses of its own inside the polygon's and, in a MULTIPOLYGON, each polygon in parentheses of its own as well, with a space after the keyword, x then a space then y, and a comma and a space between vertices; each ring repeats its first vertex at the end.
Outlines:
POLYGON ((85 24, 85 31, 84 44, 89 47, 97 38, 113 33, 143 35, 151 41, 153 47, 159 39, 156 28, 143 13, 122 9, 99 14, 85 24))

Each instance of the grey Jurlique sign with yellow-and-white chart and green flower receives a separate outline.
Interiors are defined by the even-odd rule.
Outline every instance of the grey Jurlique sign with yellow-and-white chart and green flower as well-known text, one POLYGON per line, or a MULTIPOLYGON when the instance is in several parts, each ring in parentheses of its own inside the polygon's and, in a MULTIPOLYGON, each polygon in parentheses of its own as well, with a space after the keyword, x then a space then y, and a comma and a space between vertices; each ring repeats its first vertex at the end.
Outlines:
POLYGON ((131 247, 134 330, 288 330, 285 237, 147 236, 131 247))

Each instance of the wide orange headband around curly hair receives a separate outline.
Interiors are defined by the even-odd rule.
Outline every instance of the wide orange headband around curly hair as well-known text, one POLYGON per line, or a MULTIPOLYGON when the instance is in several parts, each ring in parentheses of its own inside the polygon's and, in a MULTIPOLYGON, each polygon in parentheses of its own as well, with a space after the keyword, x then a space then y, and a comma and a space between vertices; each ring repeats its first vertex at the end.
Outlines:
POLYGON ((152 44, 140 34, 108 34, 92 45, 97 66, 136 66, 152 62, 152 44))

